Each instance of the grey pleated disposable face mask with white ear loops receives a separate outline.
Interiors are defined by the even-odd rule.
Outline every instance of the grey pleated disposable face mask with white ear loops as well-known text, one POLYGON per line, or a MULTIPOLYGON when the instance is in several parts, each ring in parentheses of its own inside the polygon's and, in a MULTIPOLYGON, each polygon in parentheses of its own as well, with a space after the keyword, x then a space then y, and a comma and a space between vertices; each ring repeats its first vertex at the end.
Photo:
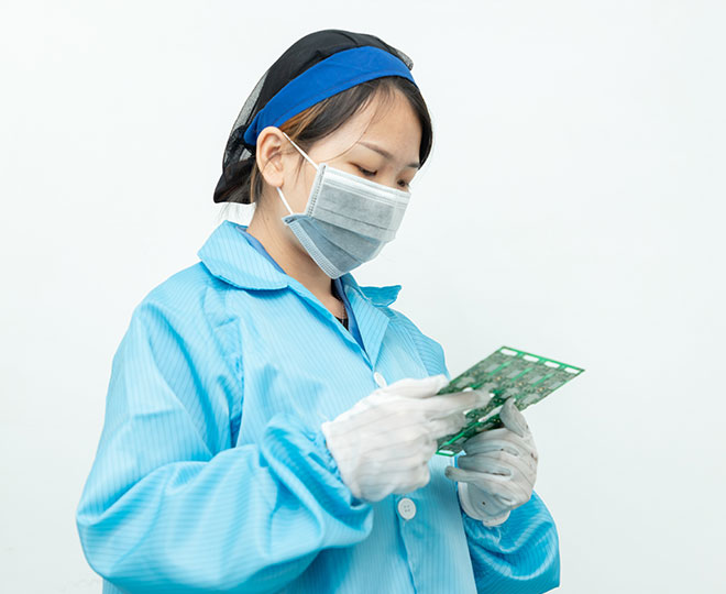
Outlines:
POLYGON ((318 173, 302 213, 294 213, 282 190, 276 188, 289 211, 283 222, 331 278, 373 260, 396 237, 410 193, 341 172, 326 163, 317 165, 287 134, 285 138, 318 173))

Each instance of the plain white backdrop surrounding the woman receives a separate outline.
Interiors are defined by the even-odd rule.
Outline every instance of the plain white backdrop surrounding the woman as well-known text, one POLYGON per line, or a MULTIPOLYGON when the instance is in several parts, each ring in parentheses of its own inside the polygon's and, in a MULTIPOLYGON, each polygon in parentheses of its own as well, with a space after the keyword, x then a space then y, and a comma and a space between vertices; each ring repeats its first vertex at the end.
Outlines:
POLYGON ((526 413, 561 592, 724 592, 725 7, 3 1, 0 590, 100 592, 74 515, 131 311, 220 222, 258 77, 340 28, 413 57, 436 134, 359 283, 452 375, 586 369, 526 413))

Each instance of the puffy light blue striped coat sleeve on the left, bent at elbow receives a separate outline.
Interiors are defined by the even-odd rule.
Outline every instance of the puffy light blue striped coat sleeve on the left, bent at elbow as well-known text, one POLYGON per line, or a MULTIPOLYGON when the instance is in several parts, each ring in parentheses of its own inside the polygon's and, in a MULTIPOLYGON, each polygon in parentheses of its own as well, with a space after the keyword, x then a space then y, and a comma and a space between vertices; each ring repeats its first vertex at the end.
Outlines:
POLYGON ((241 378, 194 318, 152 301, 134 310, 76 510, 84 553, 127 592, 277 591, 320 550, 365 539, 373 510, 342 483, 320 428, 294 416, 230 447, 241 378))

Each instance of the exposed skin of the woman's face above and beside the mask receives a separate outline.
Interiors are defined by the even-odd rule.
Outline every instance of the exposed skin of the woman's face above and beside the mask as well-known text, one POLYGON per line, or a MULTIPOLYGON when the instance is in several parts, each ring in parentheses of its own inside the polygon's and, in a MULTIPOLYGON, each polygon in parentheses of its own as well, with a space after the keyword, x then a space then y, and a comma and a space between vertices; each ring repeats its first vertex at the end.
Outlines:
MULTIPOLYGON (((279 134, 271 142, 278 143, 282 155, 273 158, 275 166, 263 173, 267 184, 278 186, 294 212, 302 212, 307 205, 316 169, 302 158, 278 129, 265 129, 279 134), (280 140, 282 139, 282 140, 280 140), (301 162, 301 165, 300 165, 301 162), (272 175, 267 175, 272 174, 272 175)), ((277 134, 275 134, 277 136, 277 134)), ((384 186, 409 190, 419 163, 421 124, 408 100, 398 91, 392 98, 374 99, 341 128, 318 141, 307 151, 317 164, 327 163, 337 169, 358 175, 384 186)), ((273 201, 279 217, 288 215, 274 188, 268 188, 267 204, 273 201)), ((282 221, 280 221, 282 223, 282 221)))

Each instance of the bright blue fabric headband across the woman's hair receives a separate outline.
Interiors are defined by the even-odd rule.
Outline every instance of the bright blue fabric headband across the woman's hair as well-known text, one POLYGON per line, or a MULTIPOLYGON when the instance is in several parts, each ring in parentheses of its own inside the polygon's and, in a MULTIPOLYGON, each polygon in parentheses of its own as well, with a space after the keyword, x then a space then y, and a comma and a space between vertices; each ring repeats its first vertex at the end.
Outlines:
POLYGON ((338 52, 310 66, 270 99, 250 122, 244 142, 255 145, 266 127, 280 125, 328 97, 383 76, 403 76, 416 85, 406 64, 385 50, 363 46, 338 52))

